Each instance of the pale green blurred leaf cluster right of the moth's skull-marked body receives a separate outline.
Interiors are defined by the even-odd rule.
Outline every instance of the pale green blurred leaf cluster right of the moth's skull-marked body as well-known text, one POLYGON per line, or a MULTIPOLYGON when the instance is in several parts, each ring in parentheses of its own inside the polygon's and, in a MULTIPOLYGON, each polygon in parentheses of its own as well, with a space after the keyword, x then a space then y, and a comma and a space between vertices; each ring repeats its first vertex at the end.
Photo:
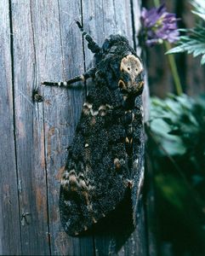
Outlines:
POLYGON ((165 100, 151 99, 151 131, 170 155, 185 154, 187 147, 194 147, 199 136, 203 141, 204 116, 205 97, 194 100, 186 95, 169 95, 165 100))

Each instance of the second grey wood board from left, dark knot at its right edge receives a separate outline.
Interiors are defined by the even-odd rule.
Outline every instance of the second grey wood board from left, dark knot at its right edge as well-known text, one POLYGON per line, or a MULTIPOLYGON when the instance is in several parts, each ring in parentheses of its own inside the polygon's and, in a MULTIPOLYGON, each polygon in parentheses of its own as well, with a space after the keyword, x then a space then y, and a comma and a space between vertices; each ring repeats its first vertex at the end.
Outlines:
POLYGON ((32 101, 37 86, 36 42, 29 1, 12 1, 14 109, 22 253, 48 255, 47 183, 42 105, 32 101))

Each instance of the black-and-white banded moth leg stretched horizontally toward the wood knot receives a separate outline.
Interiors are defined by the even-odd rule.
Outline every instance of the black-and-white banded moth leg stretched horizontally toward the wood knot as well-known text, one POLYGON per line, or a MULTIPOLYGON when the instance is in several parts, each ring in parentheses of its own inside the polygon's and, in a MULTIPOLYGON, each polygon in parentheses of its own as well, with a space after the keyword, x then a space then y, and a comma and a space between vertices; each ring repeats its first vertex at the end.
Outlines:
POLYGON ((94 77, 95 72, 96 72, 96 67, 92 67, 92 68, 88 69, 88 71, 86 73, 83 73, 82 75, 77 76, 73 79, 69 79, 64 82, 42 82, 42 84, 48 85, 48 86, 60 86, 60 87, 66 88, 66 87, 69 87, 70 84, 74 84, 79 81, 85 81, 89 78, 94 77))

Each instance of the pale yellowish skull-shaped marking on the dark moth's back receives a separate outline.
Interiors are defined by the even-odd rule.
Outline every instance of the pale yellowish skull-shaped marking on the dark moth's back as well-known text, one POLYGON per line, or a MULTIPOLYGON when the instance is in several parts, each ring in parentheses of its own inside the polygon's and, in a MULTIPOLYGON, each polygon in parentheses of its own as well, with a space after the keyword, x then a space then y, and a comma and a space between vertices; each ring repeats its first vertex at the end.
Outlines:
POLYGON ((120 63, 118 86, 123 94, 140 95, 144 87, 143 66, 135 55, 126 55, 120 63))

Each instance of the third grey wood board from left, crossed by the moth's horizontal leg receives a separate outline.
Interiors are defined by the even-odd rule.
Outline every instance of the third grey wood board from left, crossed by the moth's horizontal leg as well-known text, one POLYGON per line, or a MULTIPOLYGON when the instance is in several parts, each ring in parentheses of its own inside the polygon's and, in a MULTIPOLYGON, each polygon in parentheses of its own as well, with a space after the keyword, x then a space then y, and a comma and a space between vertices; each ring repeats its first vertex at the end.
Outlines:
MULTIPOLYGON (((44 80, 60 80, 63 76, 62 42, 60 34, 60 12, 58 1, 39 1, 32 3, 35 44, 37 50, 37 70, 40 84, 44 80)), ((47 172, 48 193, 48 226, 50 236, 50 253, 65 254, 60 248, 69 245, 60 230, 58 212, 59 178, 65 164, 65 148, 68 138, 65 137, 67 126, 68 100, 67 93, 56 88, 39 88, 43 93, 44 123, 44 162, 47 172), (60 234, 62 236, 60 236, 60 234), (57 238, 57 241, 55 239, 57 238)))

